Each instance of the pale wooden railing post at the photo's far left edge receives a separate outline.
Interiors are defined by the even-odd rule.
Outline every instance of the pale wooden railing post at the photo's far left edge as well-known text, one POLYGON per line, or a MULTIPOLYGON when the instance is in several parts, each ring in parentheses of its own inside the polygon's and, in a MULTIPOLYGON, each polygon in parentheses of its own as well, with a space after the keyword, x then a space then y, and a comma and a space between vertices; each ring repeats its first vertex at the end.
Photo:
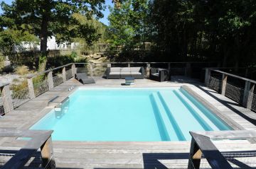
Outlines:
POLYGON ((9 83, 6 83, 3 86, 1 86, 0 91, 2 93, 4 113, 6 114, 7 112, 14 110, 14 104, 12 103, 12 100, 11 100, 11 91, 10 91, 9 83))

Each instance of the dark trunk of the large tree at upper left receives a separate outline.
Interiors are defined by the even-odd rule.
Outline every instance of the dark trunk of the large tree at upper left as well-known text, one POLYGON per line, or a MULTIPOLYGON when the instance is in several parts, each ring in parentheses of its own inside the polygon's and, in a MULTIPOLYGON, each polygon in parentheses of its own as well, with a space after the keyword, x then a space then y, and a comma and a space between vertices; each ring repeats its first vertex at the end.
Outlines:
POLYGON ((47 52, 47 37, 48 33, 48 18, 46 15, 43 15, 42 25, 41 25, 41 37, 40 37, 40 51, 41 54, 46 55, 47 52))

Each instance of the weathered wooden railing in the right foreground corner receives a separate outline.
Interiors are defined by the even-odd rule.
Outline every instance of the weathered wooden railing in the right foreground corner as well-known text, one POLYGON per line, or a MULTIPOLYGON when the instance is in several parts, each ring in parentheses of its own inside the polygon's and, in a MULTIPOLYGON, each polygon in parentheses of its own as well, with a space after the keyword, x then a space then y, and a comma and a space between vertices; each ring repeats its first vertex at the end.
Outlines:
POLYGON ((214 139, 230 139, 238 141, 256 138, 256 132, 248 130, 190 132, 191 150, 188 159, 188 169, 213 168, 255 168, 256 150, 220 152, 214 139))

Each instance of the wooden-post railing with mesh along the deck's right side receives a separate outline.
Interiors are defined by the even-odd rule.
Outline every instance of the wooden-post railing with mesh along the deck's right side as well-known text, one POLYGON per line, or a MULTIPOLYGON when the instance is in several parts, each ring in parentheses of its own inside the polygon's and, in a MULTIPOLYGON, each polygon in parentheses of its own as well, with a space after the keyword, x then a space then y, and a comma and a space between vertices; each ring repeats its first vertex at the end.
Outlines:
POLYGON ((256 111, 255 84, 249 78, 244 78, 225 71, 206 69, 206 86, 243 105, 249 110, 256 111))

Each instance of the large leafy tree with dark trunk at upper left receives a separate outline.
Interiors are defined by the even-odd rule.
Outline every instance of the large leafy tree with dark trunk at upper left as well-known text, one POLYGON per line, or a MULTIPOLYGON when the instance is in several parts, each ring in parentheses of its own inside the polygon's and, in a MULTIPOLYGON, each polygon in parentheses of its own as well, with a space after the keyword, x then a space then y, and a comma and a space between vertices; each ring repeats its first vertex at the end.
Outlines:
MULTIPOLYGON (((28 30, 40 37, 41 52, 46 54, 48 37, 62 33, 62 37, 65 37, 62 40, 71 40, 78 36, 78 31, 67 30, 70 23, 74 22, 74 13, 80 13, 87 18, 102 17, 100 10, 104 8, 104 2, 104 0, 16 0, 11 5, 1 2, 4 14, 0 21, 6 21, 1 22, 4 23, 1 28, 12 28, 15 25, 18 30, 28 30), (19 25, 24 25, 24 27, 19 25)), ((82 31, 82 35, 85 35, 87 27, 83 27, 82 31)), ((88 32, 87 35, 92 33, 88 32)))

